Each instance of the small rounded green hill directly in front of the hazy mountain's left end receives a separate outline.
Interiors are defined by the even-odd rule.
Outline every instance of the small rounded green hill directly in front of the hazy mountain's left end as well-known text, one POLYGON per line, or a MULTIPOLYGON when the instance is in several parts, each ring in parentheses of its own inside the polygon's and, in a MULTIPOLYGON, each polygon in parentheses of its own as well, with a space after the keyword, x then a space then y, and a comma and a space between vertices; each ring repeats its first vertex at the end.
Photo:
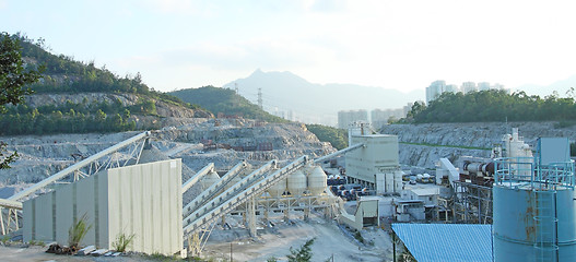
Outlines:
POLYGON ((287 122, 285 119, 270 115, 260 109, 257 105, 227 88, 204 86, 200 88, 174 91, 168 94, 178 97, 185 103, 205 108, 214 115, 220 114, 227 117, 238 116, 269 122, 287 122))

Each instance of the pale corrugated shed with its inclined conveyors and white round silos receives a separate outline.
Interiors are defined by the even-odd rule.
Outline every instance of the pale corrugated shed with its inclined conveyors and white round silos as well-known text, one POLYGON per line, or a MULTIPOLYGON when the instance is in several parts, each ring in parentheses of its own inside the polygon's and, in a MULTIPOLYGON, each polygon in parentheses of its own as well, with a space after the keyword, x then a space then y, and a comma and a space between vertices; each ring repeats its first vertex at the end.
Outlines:
MULTIPOLYGON (((132 251, 199 255, 227 214, 242 214, 251 236, 257 222, 267 224, 272 213, 285 218, 294 211, 304 218, 310 212, 339 216, 341 200, 329 190, 319 164, 366 146, 360 141, 316 159, 303 155, 283 167, 277 159, 261 166, 240 160, 224 175, 211 163, 183 181, 179 158, 140 163, 153 135, 134 135, 0 199, 2 235, 22 230, 24 241, 64 245, 68 229, 86 217, 93 227, 82 246, 113 249, 119 236, 133 235, 132 251), (183 203, 183 195, 198 184, 201 192, 183 203)), ((343 219, 355 228, 379 225, 377 202, 360 205, 361 215, 343 219)))

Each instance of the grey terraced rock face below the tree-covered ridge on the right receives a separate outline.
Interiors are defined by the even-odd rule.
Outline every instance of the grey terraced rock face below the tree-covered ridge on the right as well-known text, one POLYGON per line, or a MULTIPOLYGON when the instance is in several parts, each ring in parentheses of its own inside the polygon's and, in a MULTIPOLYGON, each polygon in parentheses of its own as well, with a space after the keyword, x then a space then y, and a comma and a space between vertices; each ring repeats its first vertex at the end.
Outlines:
POLYGON ((435 162, 459 156, 490 157, 494 144, 518 128, 527 144, 536 147, 538 138, 568 138, 576 141, 576 127, 560 128, 557 122, 482 122, 387 124, 380 132, 398 135, 400 163, 434 169, 435 162))

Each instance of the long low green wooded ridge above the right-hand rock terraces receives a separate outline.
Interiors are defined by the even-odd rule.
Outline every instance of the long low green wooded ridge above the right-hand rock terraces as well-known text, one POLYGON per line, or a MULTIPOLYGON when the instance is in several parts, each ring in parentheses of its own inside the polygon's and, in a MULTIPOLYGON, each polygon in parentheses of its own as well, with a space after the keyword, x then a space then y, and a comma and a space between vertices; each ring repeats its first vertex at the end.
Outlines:
MULTIPOLYGON (((573 91, 573 90, 572 90, 573 91)), ((571 95, 573 96, 573 95, 571 95)), ((550 95, 544 98, 524 92, 481 91, 463 95, 444 93, 430 106, 416 103, 408 122, 504 122, 504 121, 576 121, 573 97, 550 95)))

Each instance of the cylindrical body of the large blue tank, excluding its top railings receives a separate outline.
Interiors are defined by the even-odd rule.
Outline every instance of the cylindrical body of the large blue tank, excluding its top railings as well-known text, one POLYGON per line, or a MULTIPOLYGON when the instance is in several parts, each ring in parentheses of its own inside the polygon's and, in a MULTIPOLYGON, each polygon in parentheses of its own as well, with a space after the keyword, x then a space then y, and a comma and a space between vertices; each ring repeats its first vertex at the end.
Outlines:
POLYGON ((576 258, 573 189, 537 191, 494 186, 493 193, 494 261, 576 258))

